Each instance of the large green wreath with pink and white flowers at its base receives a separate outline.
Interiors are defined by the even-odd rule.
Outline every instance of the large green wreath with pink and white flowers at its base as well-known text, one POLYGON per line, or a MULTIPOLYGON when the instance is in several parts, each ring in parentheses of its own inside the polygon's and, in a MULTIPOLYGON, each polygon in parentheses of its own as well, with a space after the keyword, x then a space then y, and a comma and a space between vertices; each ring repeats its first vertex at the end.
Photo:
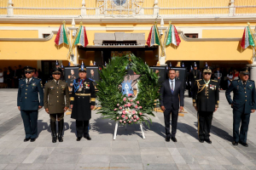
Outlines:
POLYGON ((159 99, 158 75, 144 64, 143 59, 137 58, 134 54, 127 54, 122 57, 113 57, 109 64, 100 71, 101 81, 97 82, 96 94, 101 103, 101 109, 97 113, 104 118, 118 121, 121 124, 133 124, 151 122, 148 115, 154 116, 154 107, 159 99), (139 77, 137 88, 139 93, 133 99, 131 94, 122 94, 120 84, 127 74, 127 65, 139 77))

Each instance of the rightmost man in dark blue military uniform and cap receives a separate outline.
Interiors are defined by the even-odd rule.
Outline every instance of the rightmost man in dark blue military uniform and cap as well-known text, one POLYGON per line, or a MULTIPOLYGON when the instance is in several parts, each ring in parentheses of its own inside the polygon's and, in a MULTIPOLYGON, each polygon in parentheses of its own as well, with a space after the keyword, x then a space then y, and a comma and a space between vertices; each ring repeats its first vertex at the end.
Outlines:
POLYGON ((241 70, 239 74, 240 79, 234 80, 230 83, 226 90, 226 98, 233 108, 233 145, 238 142, 245 147, 247 144, 247 132, 250 122, 251 113, 256 109, 256 93, 255 83, 249 80, 248 68, 241 70), (233 100, 230 93, 233 91, 233 100), (240 127, 241 124, 241 127, 240 127), (239 133, 240 127, 240 133, 239 133))

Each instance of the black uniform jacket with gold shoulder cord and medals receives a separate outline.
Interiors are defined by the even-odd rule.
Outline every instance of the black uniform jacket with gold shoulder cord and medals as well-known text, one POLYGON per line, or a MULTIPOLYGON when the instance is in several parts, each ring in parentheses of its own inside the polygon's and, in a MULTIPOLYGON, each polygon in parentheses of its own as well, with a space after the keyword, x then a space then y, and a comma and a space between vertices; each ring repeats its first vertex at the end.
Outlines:
POLYGON ((208 87, 203 79, 195 81, 193 88, 193 106, 198 111, 215 111, 218 108, 218 81, 210 80, 208 87))

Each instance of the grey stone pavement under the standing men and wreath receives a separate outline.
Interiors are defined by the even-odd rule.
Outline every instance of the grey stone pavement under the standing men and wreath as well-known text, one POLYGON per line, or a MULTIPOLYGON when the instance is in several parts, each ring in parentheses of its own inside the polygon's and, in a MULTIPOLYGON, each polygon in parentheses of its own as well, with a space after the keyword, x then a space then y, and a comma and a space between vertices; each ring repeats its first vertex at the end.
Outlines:
POLYGON ((232 111, 224 92, 212 121, 212 144, 197 140, 197 117, 192 99, 185 99, 185 116, 178 117, 177 143, 166 143, 164 116, 155 112, 146 139, 138 125, 119 126, 93 111, 91 141, 76 141, 75 121, 65 116, 63 143, 51 143, 49 116, 38 116, 38 139, 23 142, 24 127, 16 107, 17 89, 0 89, 0 169, 256 169, 256 113, 248 132, 249 147, 233 146, 232 111))

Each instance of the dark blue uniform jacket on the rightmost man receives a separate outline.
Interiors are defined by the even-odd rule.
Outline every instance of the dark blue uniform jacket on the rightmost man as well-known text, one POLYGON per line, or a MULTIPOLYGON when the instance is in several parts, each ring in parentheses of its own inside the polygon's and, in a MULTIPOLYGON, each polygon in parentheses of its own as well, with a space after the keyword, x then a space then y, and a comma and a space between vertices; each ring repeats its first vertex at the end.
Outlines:
POLYGON ((241 80, 233 80, 225 94, 229 104, 233 104, 233 109, 236 111, 249 114, 251 110, 256 109, 255 83, 252 80, 248 80, 245 87, 241 80), (232 91, 233 100, 230 95, 232 91))

